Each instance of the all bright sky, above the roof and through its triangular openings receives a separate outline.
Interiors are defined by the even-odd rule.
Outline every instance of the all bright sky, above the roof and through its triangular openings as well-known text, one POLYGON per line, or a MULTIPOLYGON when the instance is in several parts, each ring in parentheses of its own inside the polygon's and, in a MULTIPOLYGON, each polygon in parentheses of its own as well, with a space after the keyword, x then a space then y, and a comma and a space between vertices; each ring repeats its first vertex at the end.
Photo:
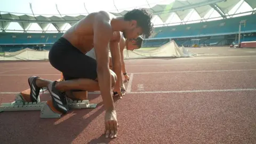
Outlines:
MULTIPOLYGON (((4 14, 6 12, 13 13, 15 15, 23 15, 28 14, 33 16, 30 5, 32 5, 33 12, 35 16, 37 15, 43 15, 45 17, 51 17, 52 15, 56 15, 58 17, 64 17, 65 15, 70 16, 77 16, 77 15, 86 15, 88 12, 96 12, 100 10, 105 10, 108 12, 122 12, 123 10, 132 10, 134 8, 139 7, 153 7, 156 4, 170 4, 174 0, 73 0, 73 1, 61 1, 61 0, 1 0, 0 4, 0 11, 1 14, 4 14), (56 9, 56 4, 58 6, 58 10, 56 9), (115 5, 114 5, 115 4, 115 5), (119 11, 117 11, 119 10, 119 11)), ((184 0, 186 1, 186 0, 184 0)), ((228 14, 234 14, 237 7, 241 5, 241 2, 239 2, 233 10, 231 10, 228 14)), ((242 6, 240 6, 239 10, 236 13, 239 12, 245 12, 245 11, 252 11, 252 8, 245 2, 243 2, 242 6)), ((201 17, 198 15, 198 13, 194 10, 191 10, 191 12, 188 14, 190 17, 186 17, 185 20, 188 21, 187 23, 192 23, 189 21, 198 20, 195 22, 199 22, 201 20, 201 17)), ((205 15, 205 19, 209 17, 220 17, 219 13, 215 10, 211 10, 209 13, 205 15)), ((210 17, 210 18, 211 18, 210 17)), ((217 18, 221 19, 221 18, 217 18)), ((214 20, 214 19, 212 19, 214 20)), ((163 22, 162 20, 155 16, 151 20, 155 26, 159 25, 162 26, 163 22)), ((179 25, 181 20, 179 17, 173 13, 170 15, 170 19, 166 21, 166 23, 169 23, 170 25, 179 25), (177 23, 178 22, 178 23, 177 23), (172 24, 175 23, 175 24, 172 24)), ((67 23, 67 25, 62 29, 63 31, 67 30, 71 26, 67 23)), ((23 30, 18 22, 11 22, 10 25, 6 28, 7 30, 23 30)), ((6 30, 6 31, 7 31, 6 30)), ((27 30, 42 30, 37 23, 31 24, 31 26, 27 30)), ((50 25, 47 30, 56 30, 53 25, 50 25)), ((0 30, 1 31, 1 30, 0 30)))

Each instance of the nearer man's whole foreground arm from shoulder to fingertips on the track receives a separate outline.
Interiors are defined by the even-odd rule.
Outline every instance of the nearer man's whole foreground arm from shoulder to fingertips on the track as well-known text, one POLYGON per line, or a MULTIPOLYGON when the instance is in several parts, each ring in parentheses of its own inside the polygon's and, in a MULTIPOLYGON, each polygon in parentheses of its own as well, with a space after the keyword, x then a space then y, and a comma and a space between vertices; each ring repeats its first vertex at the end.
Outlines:
POLYGON ((109 69, 109 41, 113 35, 110 18, 106 12, 95 15, 93 25, 93 44, 97 60, 97 74, 101 97, 106 109, 105 138, 117 137, 117 116, 111 94, 111 75, 109 69))

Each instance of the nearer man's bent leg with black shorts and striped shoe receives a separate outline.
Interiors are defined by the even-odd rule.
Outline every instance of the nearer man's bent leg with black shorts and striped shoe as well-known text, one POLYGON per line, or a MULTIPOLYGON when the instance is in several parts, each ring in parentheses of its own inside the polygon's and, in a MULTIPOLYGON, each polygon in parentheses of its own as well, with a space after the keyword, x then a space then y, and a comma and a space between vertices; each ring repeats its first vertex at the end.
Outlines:
MULTIPOLYGON (((83 54, 66 39, 53 45, 49 52, 51 65, 61 71, 63 75, 74 79, 65 79, 62 82, 52 82, 48 90, 52 95, 53 106, 62 113, 67 113, 65 95, 62 92, 69 90, 99 91, 97 81, 97 62, 95 59, 83 54)), ((111 71, 111 70, 110 70, 111 71)), ((111 82, 116 82, 116 74, 111 71, 111 82)))

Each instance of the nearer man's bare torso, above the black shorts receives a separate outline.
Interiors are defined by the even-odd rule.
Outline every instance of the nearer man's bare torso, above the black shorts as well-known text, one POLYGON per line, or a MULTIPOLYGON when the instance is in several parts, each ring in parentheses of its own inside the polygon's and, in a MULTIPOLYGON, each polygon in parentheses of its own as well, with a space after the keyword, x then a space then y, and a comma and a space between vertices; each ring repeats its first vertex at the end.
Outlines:
MULTIPOLYGON (((93 49, 93 21, 97 13, 90 13, 84 19, 78 21, 70 29, 66 31, 62 37, 66 38, 72 45, 77 47, 84 54, 93 49)), ((109 14, 110 19, 114 19, 113 14, 109 14)), ((119 31, 114 31, 110 41, 119 41, 119 31)), ((103 35, 103 34, 102 34, 103 35)))

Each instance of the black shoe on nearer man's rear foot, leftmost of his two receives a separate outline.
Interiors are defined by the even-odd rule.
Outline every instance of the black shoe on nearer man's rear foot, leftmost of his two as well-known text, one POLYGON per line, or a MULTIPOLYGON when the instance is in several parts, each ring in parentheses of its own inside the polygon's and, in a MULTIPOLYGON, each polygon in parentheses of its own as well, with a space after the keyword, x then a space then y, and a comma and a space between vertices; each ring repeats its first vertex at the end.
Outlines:
POLYGON ((31 76, 28 78, 28 84, 30 86, 30 100, 31 102, 38 102, 40 101, 39 92, 40 92, 40 87, 36 85, 36 79, 38 76, 31 76))

